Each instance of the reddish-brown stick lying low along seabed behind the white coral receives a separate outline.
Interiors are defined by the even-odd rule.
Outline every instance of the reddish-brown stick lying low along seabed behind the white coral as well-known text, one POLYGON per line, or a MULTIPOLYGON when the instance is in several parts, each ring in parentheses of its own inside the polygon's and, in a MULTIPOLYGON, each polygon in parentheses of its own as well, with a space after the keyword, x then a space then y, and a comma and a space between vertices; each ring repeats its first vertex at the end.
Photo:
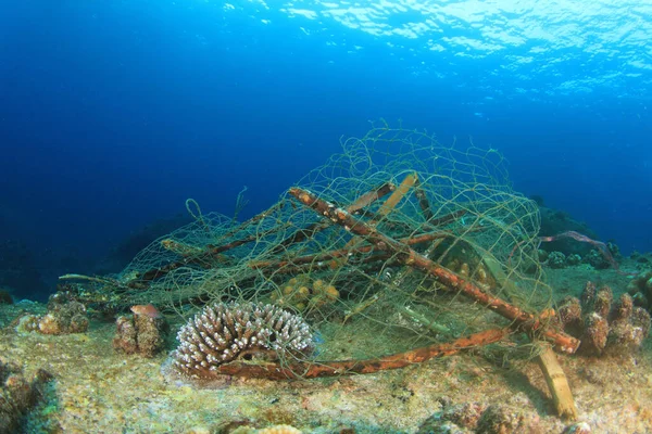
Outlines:
POLYGON ((294 362, 288 365, 230 362, 221 365, 216 370, 201 371, 202 378, 215 378, 220 374, 269 379, 315 379, 322 376, 350 375, 354 373, 375 373, 389 369, 400 369, 414 363, 422 363, 432 358, 450 356, 464 349, 492 344, 510 334, 509 329, 491 329, 450 343, 435 344, 426 347, 399 353, 387 357, 367 360, 294 362))

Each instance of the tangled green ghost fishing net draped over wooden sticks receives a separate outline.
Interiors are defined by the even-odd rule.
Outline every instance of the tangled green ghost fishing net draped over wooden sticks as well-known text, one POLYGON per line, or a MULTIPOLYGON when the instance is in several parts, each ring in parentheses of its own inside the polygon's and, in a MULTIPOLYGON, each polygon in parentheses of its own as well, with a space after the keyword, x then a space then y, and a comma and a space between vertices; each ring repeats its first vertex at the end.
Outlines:
POLYGON ((317 355, 220 371, 252 376, 397 368, 513 331, 575 349, 549 327, 537 205, 512 190, 498 152, 387 125, 342 149, 244 222, 196 206, 192 224, 100 280, 96 299, 184 317, 252 302, 302 317, 317 355))

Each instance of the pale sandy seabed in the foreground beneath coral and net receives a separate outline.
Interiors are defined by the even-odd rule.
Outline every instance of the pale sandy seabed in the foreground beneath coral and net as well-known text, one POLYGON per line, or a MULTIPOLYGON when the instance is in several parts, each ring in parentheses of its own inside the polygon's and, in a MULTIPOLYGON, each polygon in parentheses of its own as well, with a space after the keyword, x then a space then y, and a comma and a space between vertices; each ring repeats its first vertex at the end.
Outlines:
MULTIPOLYGON (((594 273, 559 270, 549 277, 568 293, 579 292, 589 279, 623 285, 611 271, 594 273)), ((292 382, 231 379, 201 390, 164 375, 166 355, 145 359, 116 353, 112 323, 91 321, 86 333, 59 336, 16 331, 14 320, 35 306, 0 306, 0 359, 21 365, 26 375, 42 368, 54 376, 42 404, 28 416, 29 433, 218 433, 239 424, 281 423, 305 433, 416 433, 441 411, 442 401, 499 403, 536 420, 544 433, 561 433, 569 424, 554 416, 535 362, 504 369, 461 354, 378 374, 292 382)), ((652 432, 650 341, 626 357, 560 356, 578 420, 593 433, 652 432)))

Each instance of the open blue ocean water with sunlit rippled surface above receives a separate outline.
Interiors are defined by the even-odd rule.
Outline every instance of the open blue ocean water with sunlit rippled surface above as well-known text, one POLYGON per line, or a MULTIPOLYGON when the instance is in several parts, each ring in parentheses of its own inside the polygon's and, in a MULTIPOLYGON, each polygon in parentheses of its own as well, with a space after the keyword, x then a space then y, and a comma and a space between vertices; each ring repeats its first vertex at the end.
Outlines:
POLYGON ((0 240, 43 291, 188 197, 264 209, 380 117, 652 250, 650 1, 0 5, 0 240))

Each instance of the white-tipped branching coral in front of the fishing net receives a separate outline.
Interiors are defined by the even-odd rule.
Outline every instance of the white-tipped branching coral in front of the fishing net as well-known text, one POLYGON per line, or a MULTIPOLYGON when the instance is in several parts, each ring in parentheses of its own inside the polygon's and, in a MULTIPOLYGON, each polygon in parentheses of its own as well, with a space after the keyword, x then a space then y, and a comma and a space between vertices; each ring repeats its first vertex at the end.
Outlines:
POLYGON ((206 379, 233 360, 305 357, 314 349, 309 326, 278 306, 218 303, 204 307, 178 332, 173 367, 181 374, 206 379))

